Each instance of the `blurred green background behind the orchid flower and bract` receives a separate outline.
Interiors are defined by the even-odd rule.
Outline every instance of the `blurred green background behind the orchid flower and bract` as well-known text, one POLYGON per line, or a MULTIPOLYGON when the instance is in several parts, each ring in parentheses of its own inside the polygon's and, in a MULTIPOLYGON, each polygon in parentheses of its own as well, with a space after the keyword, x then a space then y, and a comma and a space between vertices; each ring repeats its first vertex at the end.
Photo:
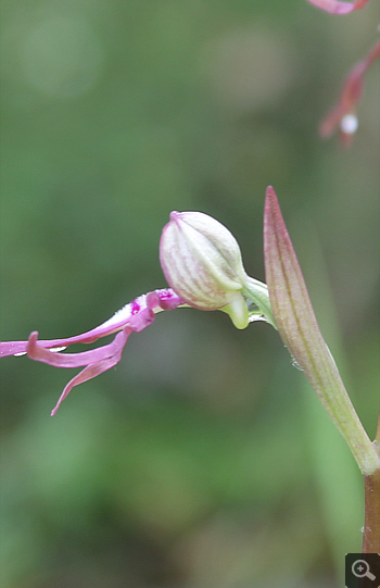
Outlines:
MULTIPOLYGON (((379 395, 379 75, 351 150, 317 135, 376 38, 376 2, 3 0, 1 338, 76 335, 164 287, 172 210, 264 279, 274 185, 322 331, 371 437, 379 395)), ((3 588, 343 586, 363 491, 265 324, 164 313, 118 366, 1 363, 3 588)))

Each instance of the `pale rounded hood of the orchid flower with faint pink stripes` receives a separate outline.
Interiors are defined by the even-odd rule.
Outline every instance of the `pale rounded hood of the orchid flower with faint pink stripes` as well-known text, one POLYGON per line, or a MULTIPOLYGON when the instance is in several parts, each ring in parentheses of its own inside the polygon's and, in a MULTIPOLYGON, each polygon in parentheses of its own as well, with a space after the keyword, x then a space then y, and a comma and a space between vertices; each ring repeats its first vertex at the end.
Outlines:
POLYGON ((172 212, 161 237, 160 261, 167 283, 187 304, 223 310, 237 328, 250 322, 246 288, 257 284, 261 293, 266 289, 246 275, 231 233, 201 212, 172 212))

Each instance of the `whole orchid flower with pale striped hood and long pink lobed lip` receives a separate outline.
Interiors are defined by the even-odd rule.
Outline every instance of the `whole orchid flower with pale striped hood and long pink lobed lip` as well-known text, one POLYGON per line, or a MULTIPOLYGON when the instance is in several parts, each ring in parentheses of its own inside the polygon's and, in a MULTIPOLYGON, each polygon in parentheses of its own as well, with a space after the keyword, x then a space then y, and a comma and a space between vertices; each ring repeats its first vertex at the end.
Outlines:
POLYGON ((99 327, 67 339, 38 340, 38 333, 34 331, 27 341, 0 343, 0 358, 27 354, 56 367, 84 367, 66 385, 52 415, 74 386, 116 365, 129 335, 152 324, 161 311, 178 306, 221 310, 237 328, 259 320, 275 326, 266 285, 245 274, 236 239, 212 216, 173 212, 163 230, 160 259, 172 288, 140 296, 99 327), (114 333, 117 335, 109 345, 79 353, 60 353, 73 343, 92 343, 114 333))

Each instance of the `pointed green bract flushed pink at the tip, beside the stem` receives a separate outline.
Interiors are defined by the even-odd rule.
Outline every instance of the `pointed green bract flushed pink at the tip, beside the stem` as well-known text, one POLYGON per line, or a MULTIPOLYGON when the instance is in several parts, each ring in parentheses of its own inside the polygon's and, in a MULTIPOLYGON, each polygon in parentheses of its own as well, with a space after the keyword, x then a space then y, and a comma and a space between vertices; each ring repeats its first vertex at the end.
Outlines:
POLYGON ((266 193, 264 255, 270 305, 279 334, 309 379, 332 422, 345 437, 363 473, 379 467, 371 445, 319 330, 305 280, 275 190, 266 193))

